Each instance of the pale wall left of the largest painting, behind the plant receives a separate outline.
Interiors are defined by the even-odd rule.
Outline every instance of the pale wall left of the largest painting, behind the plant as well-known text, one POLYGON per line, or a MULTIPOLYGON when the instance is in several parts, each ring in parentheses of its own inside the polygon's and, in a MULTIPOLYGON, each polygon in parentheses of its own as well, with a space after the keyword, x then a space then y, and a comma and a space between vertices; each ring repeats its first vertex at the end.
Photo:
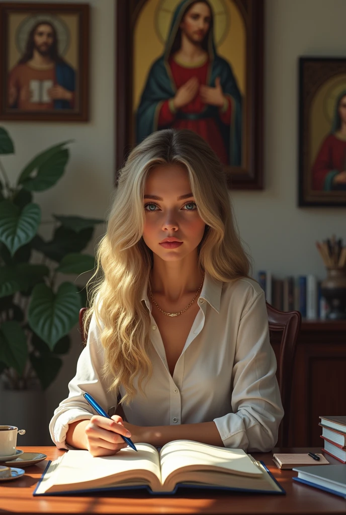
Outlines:
MULTIPOLYGON (((78 0, 73 0, 78 2, 78 0)), ((62 2, 60 2, 62 3, 62 2)), ((83 2, 80 2, 83 3, 83 2)), ((42 208, 42 219, 51 219, 51 213, 103 218, 109 206, 114 183, 114 94, 115 94, 115 3, 113 0, 89 0, 90 16, 90 122, 1 122, 15 144, 15 156, 2 158, 12 182, 19 171, 36 153, 65 140, 73 139, 71 157, 65 175, 56 186, 35 194, 42 208)), ((47 232, 45 226, 40 232, 47 232)), ((95 238, 104 230, 98 226, 95 238)), ((94 242, 86 249, 93 253, 94 242)), ((72 280, 73 276, 67 278, 72 280)), ((78 282, 81 284, 81 281, 78 282)), ((47 421, 55 407, 67 396, 68 381, 76 370, 81 351, 77 329, 73 335, 73 348, 64 356, 64 366, 58 379, 46 391, 47 421)), ((51 440, 43 444, 50 444, 51 440)))

